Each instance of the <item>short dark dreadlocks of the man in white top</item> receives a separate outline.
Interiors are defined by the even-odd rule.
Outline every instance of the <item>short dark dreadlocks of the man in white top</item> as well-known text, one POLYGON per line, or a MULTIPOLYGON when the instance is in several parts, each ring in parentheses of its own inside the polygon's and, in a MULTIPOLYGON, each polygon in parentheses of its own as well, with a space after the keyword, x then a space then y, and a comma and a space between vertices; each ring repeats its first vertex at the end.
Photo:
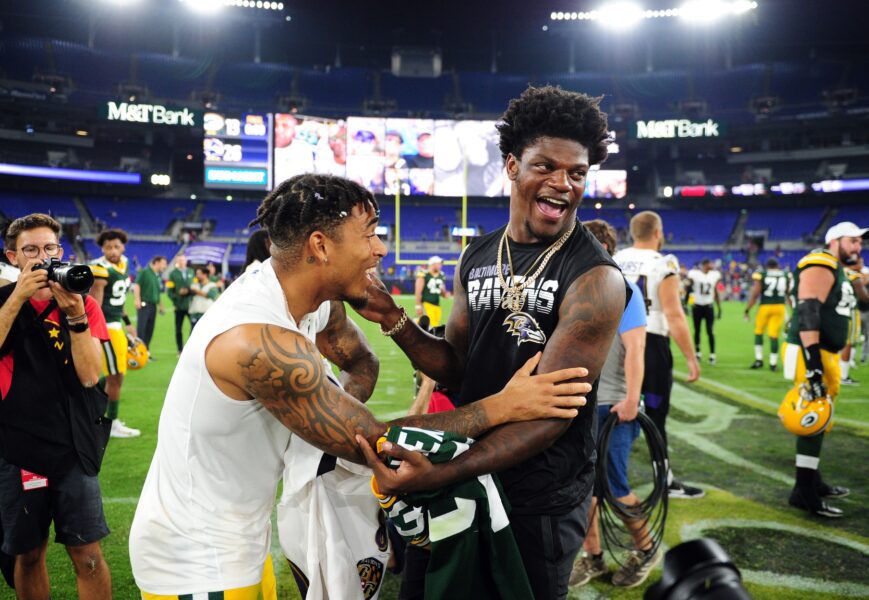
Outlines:
POLYGON ((265 229, 274 246, 297 259, 315 231, 338 239, 338 226, 357 204, 380 214, 377 200, 358 183, 334 175, 296 175, 265 197, 249 226, 265 229))

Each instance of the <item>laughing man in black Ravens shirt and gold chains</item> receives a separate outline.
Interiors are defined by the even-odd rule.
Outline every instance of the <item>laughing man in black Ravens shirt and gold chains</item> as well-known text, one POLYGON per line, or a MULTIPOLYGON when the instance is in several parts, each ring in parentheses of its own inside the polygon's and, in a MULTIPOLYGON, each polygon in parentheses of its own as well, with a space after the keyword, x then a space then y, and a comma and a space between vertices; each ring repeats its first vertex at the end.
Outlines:
MULTIPOLYGON (((385 292, 372 293, 361 311, 393 332, 426 375, 460 390, 460 407, 503 387, 510 372, 541 350, 539 373, 583 365, 583 381, 600 374, 628 292, 616 264, 576 219, 589 169, 607 156, 599 101, 529 87, 510 102, 497 126, 513 184, 510 219, 462 255, 445 339, 409 321, 385 292)), ((438 465, 396 447, 387 453, 403 469, 393 471, 363 448, 384 493, 414 491, 418 473, 428 485, 497 473, 534 596, 563 598, 594 481, 593 397, 575 419, 500 427, 438 465)))

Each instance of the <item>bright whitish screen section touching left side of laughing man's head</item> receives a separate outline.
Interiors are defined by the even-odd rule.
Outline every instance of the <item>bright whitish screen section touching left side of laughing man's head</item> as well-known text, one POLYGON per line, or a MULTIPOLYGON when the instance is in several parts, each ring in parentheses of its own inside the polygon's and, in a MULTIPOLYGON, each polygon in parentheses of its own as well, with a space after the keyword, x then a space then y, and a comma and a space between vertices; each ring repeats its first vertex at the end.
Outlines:
POLYGON ((434 193, 509 195, 495 121, 435 121, 434 193))

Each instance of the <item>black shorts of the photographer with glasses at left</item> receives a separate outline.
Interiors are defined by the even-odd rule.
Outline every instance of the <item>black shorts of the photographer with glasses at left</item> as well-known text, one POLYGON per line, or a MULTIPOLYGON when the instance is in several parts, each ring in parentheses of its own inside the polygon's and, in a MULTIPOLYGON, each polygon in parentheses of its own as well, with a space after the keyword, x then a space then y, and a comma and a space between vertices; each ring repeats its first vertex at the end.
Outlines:
POLYGON ((78 461, 63 476, 50 477, 48 487, 24 491, 21 469, 0 459, 0 519, 3 552, 24 554, 48 538, 54 521, 54 541, 84 546, 109 535, 100 483, 85 475, 78 461))

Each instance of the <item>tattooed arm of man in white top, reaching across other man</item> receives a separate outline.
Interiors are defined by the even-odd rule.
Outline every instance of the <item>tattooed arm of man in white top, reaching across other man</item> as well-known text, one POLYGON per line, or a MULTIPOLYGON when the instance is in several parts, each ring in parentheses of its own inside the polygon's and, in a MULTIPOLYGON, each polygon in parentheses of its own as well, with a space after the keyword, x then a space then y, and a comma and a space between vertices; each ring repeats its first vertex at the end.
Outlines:
MULTIPOLYGON (((576 394, 588 389, 582 384, 559 382, 585 371, 569 369, 532 376, 538 360, 539 356, 528 361, 498 394, 450 413, 396 423, 477 437, 520 418, 575 416, 575 408, 585 403, 576 394), (529 403, 529 397, 538 400, 529 403)), ((319 351, 299 333, 274 325, 240 325, 212 340, 205 364, 227 396, 256 399, 287 429, 329 454, 364 463, 355 436, 373 444, 386 430, 361 402, 327 379, 319 351)))

